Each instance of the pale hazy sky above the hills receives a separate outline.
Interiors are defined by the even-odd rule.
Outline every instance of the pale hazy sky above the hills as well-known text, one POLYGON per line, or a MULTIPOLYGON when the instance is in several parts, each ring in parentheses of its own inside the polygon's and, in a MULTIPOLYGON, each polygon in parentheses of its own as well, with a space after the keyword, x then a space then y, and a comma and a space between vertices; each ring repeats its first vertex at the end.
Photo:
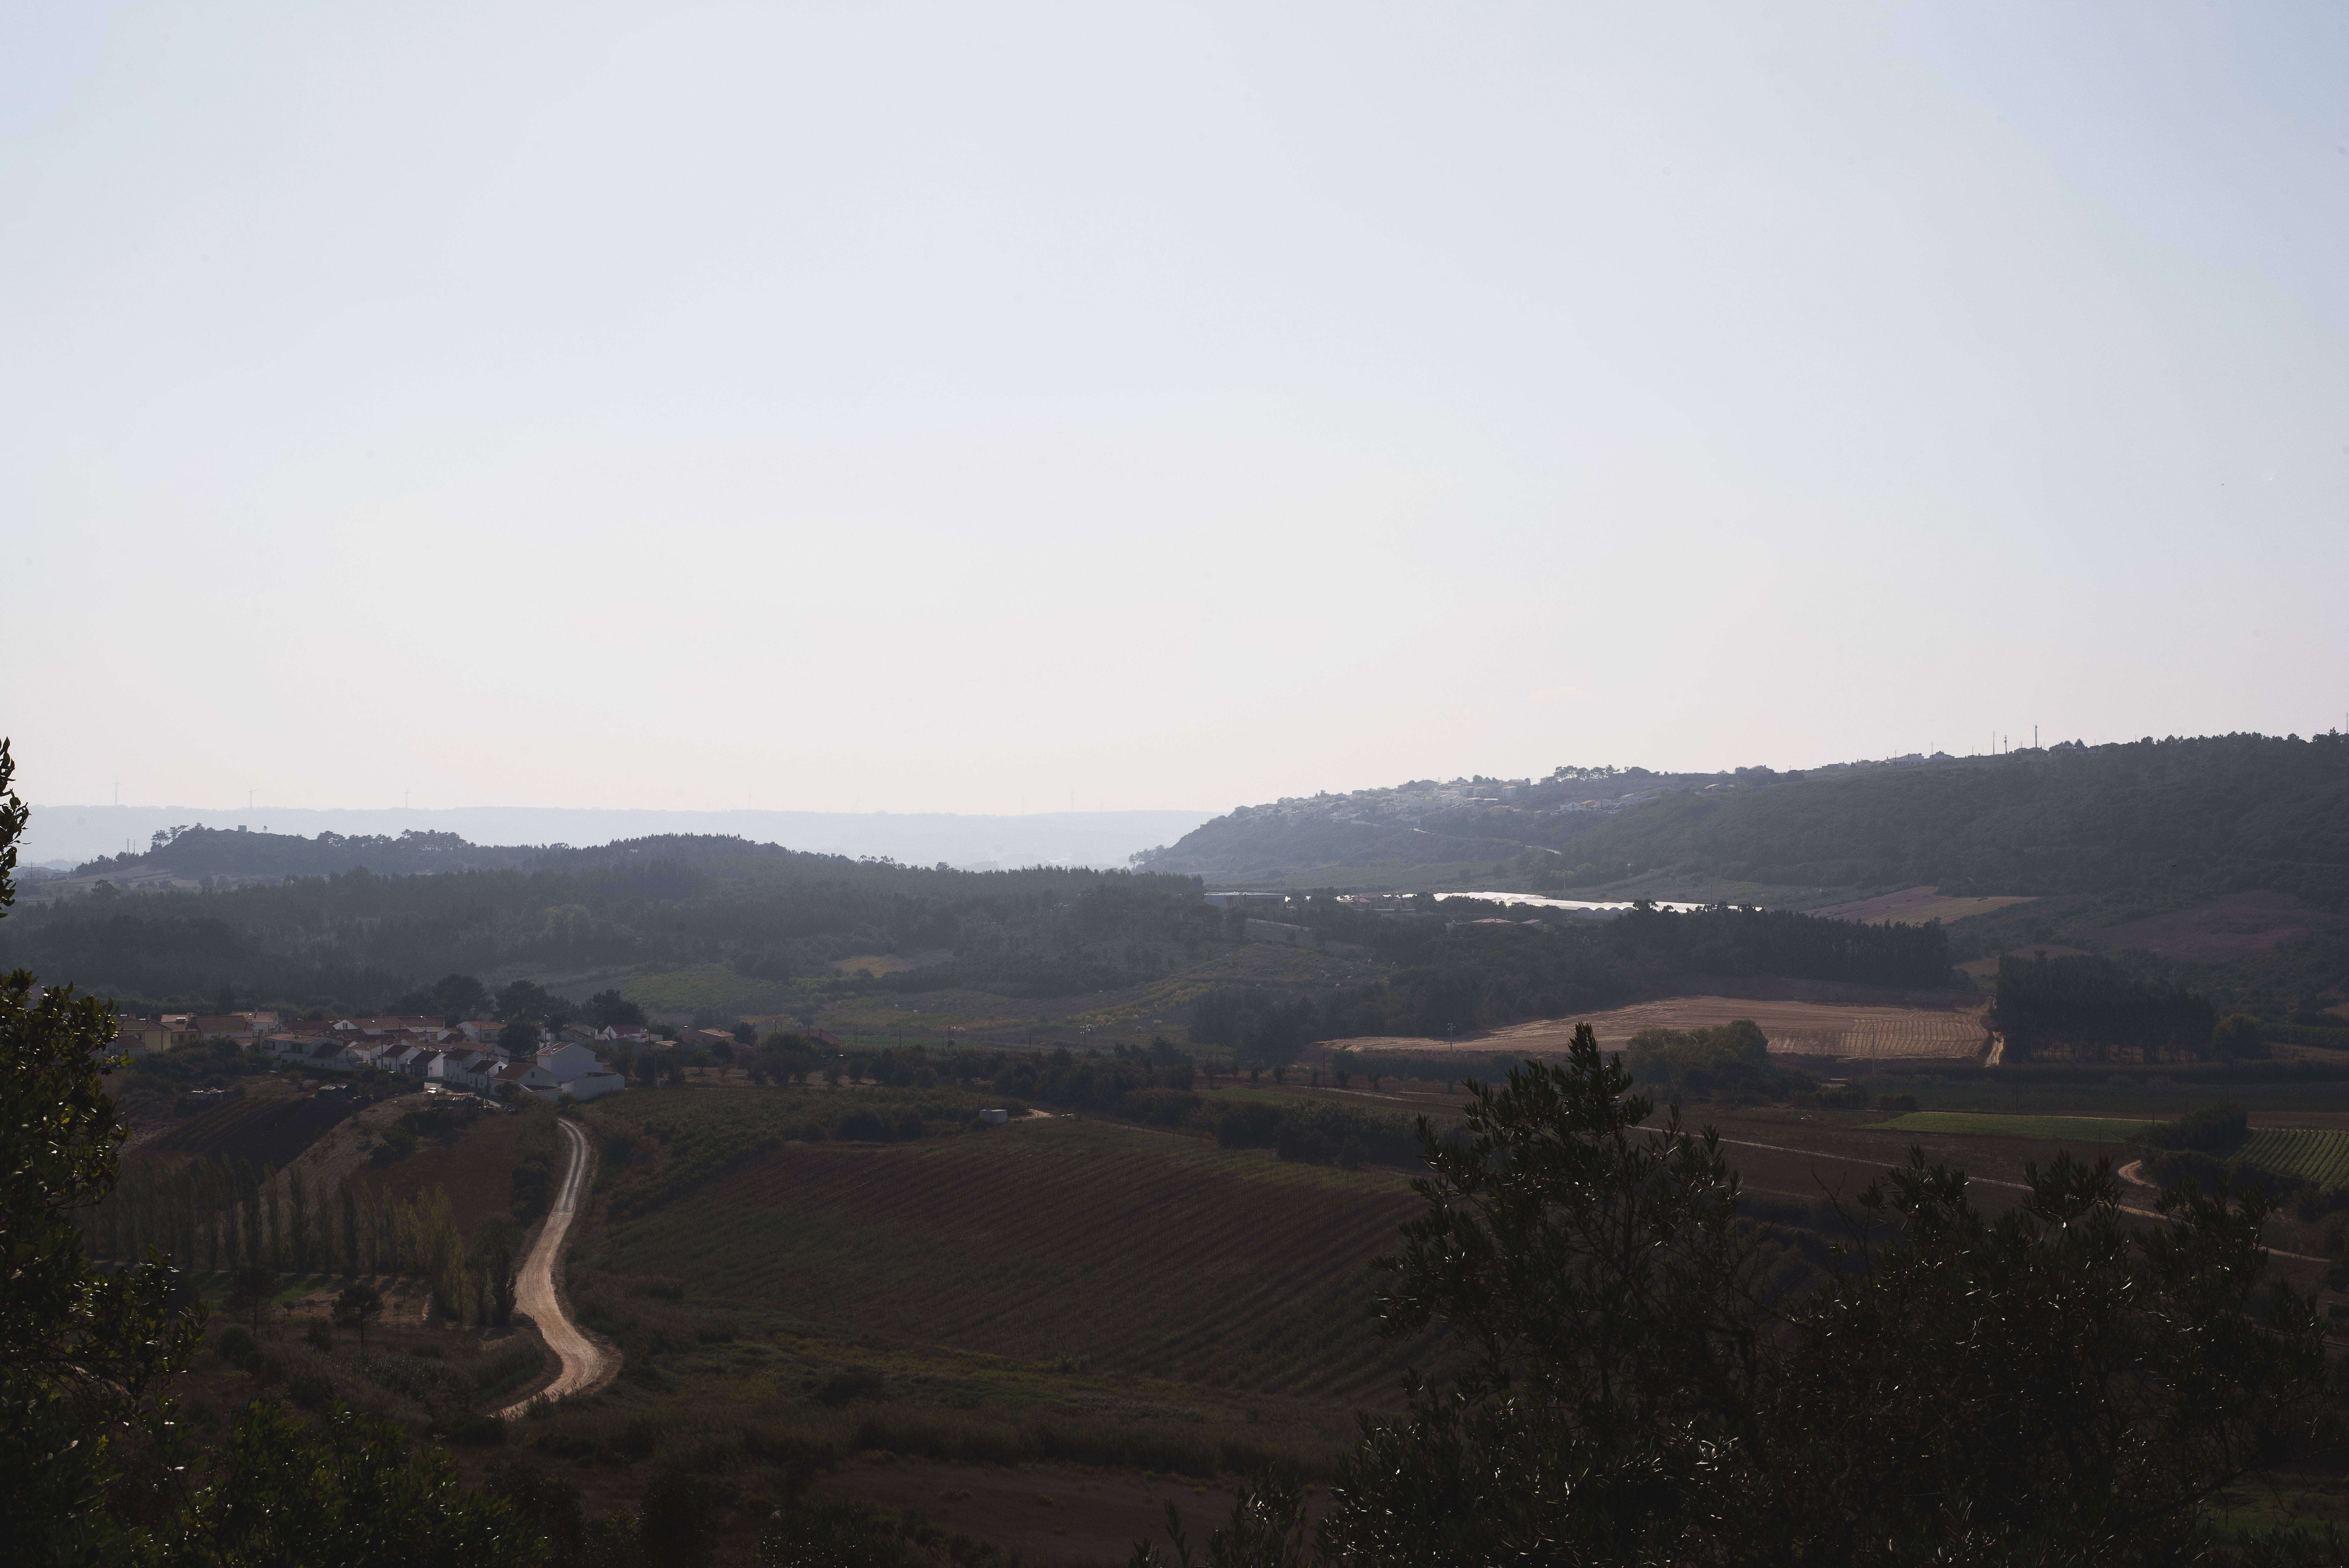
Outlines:
POLYGON ((0 5, 35 802, 2349 710, 2349 7, 0 5))

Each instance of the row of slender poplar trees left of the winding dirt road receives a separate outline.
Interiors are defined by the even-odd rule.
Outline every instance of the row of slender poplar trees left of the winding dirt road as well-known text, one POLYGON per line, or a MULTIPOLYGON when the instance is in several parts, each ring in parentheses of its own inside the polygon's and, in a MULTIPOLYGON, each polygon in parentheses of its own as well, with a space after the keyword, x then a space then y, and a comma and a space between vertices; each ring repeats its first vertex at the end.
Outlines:
POLYGON ((505 1326, 514 1312, 512 1220, 486 1220, 467 1244, 444 1187, 402 1201, 348 1175, 329 1192, 301 1166, 141 1159, 80 1225, 92 1258, 139 1262, 160 1248, 190 1272, 411 1274, 430 1281, 444 1316, 505 1326))

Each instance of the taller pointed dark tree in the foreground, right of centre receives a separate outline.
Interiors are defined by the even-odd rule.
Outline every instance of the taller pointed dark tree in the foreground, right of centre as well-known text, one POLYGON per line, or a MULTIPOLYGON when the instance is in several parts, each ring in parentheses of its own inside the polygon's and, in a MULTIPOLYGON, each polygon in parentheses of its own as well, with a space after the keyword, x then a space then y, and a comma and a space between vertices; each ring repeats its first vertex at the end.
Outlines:
POLYGON ((1640 1131, 1590 1025, 1564 1065, 1470 1086, 1463 1138, 1421 1119, 1426 1213, 1384 1258, 1388 1333, 1452 1328, 1452 1387, 1367 1422, 1327 1535, 1381 1563, 1694 1556, 1722 1455, 1752 1439, 1762 1335, 1738 1178, 1680 1110, 1640 1131))

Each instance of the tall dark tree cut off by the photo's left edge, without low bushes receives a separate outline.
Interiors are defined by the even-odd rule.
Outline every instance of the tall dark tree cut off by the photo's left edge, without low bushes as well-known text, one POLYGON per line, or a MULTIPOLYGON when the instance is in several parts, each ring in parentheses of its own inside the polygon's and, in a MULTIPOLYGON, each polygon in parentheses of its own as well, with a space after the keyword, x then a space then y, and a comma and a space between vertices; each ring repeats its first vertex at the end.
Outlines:
MULTIPOLYGON (((14 773, 0 738, 0 917, 31 818, 14 773)), ((162 1253, 99 1272, 73 1222, 120 1180, 127 1128, 103 1088, 113 1037, 106 1001, 68 985, 35 999, 21 969, 0 978, 0 1537, 19 1561, 120 1556, 129 1526, 103 1507, 120 1448, 157 1432, 204 1328, 200 1305, 171 1307, 162 1253)))

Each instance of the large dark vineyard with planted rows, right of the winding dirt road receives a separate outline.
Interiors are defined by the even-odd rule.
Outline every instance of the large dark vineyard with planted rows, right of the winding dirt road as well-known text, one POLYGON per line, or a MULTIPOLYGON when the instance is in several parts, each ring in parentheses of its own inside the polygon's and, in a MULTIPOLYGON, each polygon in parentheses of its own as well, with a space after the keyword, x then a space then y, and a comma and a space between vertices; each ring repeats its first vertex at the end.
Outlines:
POLYGON ((836 1331, 1264 1394, 1386 1399, 1423 1345, 1379 1340, 1369 1258, 1419 1201, 1395 1175, 1283 1164, 1099 1121, 897 1147, 792 1143, 639 1213, 592 1262, 688 1300, 836 1331))

